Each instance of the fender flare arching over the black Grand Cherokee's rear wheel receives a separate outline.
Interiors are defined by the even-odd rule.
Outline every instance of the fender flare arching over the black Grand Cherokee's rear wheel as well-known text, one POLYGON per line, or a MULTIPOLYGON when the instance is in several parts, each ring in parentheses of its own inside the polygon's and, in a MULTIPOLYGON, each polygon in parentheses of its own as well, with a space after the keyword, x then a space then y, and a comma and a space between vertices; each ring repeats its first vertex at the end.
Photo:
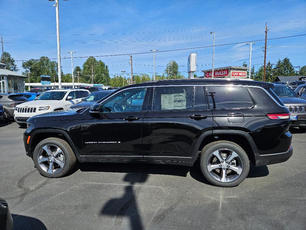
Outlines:
POLYGON ((248 134, 247 132, 244 131, 240 131, 240 130, 213 130, 211 131, 207 131, 207 132, 203 132, 201 134, 201 136, 199 137, 199 139, 196 142, 196 145, 192 151, 192 157, 197 157, 198 154, 198 149, 202 143, 202 141, 204 140, 205 137, 209 136, 209 135, 218 135, 218 134, 235 134, 235 135, 240 135, 243 136, 247 139, 248 143, 250 144, 253 152, 254 152, 254 157, 256 155, 259 155, 258 153, 258 149, 256 147, 256 144, 254 142, 254 140, 252 139, 252 137, 250 136, 250 134, 248 134))

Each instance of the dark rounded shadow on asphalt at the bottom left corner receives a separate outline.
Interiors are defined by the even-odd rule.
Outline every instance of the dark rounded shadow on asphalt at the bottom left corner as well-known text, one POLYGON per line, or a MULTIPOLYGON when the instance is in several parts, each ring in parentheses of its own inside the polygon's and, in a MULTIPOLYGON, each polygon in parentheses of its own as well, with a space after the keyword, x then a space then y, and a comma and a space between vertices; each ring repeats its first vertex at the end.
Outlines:
POLYGON ((13 230, 47 230, 40 220, 34 217, 12 214, 13 230))

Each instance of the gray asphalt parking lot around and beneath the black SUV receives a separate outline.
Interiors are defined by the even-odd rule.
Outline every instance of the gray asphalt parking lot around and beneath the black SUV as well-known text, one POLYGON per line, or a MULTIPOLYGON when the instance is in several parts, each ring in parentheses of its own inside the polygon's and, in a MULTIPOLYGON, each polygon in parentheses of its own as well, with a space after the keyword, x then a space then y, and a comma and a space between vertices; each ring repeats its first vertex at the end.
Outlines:
POLYGON ((83 163, 45 178, 25 155, 24 128, 0 124, 0 197, 14 229, 305 229, 306 133, 293 156, 252 167, 234 188, 210 185, 194 166, 83 163))

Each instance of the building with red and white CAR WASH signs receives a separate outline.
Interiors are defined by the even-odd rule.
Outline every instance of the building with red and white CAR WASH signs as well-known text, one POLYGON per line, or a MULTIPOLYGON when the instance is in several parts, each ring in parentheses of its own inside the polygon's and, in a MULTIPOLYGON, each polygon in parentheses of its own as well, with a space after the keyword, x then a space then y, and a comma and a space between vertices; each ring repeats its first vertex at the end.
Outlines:
MULTIPOLYGON (((247 70, 248 67, 242 66, 228 66, 222 68, 214 69, 214 78, 247 78, 247 70)), ((212 69, 210 70, 202 70, 204 73, 203 76, 199 78, 211 78, 212 77, 212 69)))

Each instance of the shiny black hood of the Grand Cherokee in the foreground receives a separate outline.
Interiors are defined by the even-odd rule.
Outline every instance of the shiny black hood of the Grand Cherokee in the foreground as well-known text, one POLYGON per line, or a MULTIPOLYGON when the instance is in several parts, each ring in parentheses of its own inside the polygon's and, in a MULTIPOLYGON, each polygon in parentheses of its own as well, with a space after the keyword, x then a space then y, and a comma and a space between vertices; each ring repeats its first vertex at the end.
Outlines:
POLYGON ((35 115, 28 119, 29 122, 34 122, 37 119, 43 119, 43 121, 67 121, 67 120, 79 120, 83 114, 76 113, 77 109, 58 110, 50 113, 43 113, 35 115))

